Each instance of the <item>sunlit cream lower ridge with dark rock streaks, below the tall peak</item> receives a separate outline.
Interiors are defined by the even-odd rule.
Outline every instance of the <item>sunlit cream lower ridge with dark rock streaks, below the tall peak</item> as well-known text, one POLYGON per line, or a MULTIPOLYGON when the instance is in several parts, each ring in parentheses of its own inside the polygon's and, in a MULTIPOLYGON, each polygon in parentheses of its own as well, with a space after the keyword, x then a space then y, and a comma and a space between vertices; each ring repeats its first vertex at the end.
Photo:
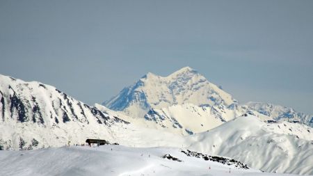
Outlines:
POLYGON ((154 127, 175 134, 197 134, 222 125, 234 118, 234 111, 225 106, 195 106, 182 104, 163 109, 150 109, 145 115, 146 121, 154 122, 154 127))

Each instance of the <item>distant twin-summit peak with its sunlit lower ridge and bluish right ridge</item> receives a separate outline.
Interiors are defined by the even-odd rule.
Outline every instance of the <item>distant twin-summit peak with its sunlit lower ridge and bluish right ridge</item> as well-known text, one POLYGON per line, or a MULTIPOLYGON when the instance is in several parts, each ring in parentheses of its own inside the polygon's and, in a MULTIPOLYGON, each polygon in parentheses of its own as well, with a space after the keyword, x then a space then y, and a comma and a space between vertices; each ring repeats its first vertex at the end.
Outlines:
POLYGON ((313 115, 291 108, 259 102, 239 104, 191 67, 183 67, 168 77, 148 73, 102 105, 138 118, 135 121, 152 128, 183 135, 207 131, 244 113, 262 120, 290 120, 313 126, 313 115))

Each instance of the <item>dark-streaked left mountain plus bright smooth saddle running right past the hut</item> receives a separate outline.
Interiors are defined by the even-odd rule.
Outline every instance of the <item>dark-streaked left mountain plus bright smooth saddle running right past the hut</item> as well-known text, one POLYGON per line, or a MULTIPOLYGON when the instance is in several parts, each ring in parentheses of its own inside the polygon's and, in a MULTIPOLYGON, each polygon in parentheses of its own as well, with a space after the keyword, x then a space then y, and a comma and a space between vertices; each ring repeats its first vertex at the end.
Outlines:
POLYGON ((53 86, 0 75, 0 150, 85 144, 87 138, 127 146, 184 145, 181 136, 122 119, 134 118, 99 111, 53 86))

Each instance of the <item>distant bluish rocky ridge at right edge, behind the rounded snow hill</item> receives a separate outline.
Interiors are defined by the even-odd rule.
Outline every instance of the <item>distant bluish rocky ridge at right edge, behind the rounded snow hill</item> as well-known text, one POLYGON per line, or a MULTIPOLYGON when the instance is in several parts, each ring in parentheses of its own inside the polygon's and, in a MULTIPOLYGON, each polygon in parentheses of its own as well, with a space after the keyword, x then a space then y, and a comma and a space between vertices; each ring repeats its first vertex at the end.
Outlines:
POLYGON ((271 117, 273 120, 298 121, 313 127, 313 115, 300 113, 291 108, 260 102, 248 102, 243 106, 271 117))

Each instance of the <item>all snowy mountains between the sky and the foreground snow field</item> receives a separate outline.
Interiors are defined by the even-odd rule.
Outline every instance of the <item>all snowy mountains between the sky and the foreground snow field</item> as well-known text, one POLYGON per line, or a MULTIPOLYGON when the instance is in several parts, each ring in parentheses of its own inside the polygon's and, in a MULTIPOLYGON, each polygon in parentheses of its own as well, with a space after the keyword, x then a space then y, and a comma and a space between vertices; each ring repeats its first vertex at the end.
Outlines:
POLYGON ((312 115, 239 104, 190 67, 168 77, 149 73, 104 105, 0 75, 0 150, 102 138, 131 147, 183 147, 268 172, 313 174, 312 115))

